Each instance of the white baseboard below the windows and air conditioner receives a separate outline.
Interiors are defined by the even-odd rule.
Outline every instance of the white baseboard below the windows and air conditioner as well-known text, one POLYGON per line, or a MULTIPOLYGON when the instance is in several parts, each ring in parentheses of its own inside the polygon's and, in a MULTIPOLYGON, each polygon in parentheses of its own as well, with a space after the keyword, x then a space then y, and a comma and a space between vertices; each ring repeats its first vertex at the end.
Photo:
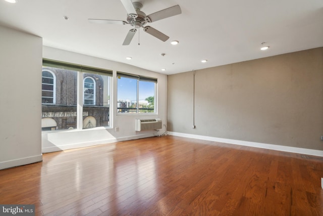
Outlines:
POLYGON ((68 145, 57 145, 57 146, 50 146, 50 147, 42 147, 42 153, 49 153, 55 151, 64 151, 68 149, 76 149, 76 148, 84 148, 96 145, 102 145, 107 143, 116 143, 121 141, 128 141, 128 140, 136 140, 141 138, 153 137, 154 134, 143 134, 143 135, 135 135, 129 137, 119 137, 119 138, 112 138, 112 139, 105 139, 105 140, 95 140, 91 142, 83 142, 83 143, 73 143, 68 145))

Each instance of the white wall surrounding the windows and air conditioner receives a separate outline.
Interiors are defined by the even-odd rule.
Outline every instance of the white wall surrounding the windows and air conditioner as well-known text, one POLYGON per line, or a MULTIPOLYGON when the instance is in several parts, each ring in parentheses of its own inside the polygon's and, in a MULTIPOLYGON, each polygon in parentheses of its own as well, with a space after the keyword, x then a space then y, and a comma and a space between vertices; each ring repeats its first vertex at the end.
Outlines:
POLYGON ((112 114, 110 117, 113 127, 98 127, 86 130, 60 132, 43 132, 42 152, 59 151, 70 148, 151 137, 162 134, 166 131, 164 124, 166 124, 167 121, 167 75, 155 73, 123 63, 49 47, 43 47, 43 58, 113 70, 113 103, 112 107, 110 107, 112 109, 112 114), (155 77, 158 79, 157 114, 117 114, 115 109, 117 104, 117 71, 155 77), (163 121, 163 128, 160 129, 160 132, 158 133, 155 131, 136 132, 136 118, 160 118, 163 121), (116 132, 116 127, 119 128, 118 132, 116 132))

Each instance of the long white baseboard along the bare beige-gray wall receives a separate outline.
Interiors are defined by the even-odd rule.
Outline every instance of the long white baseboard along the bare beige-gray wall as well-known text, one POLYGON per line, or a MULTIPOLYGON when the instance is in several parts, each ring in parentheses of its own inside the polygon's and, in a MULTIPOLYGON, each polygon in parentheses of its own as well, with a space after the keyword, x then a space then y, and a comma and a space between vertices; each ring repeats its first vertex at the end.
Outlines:
POLYGON ((178 137, 186 137, 186 138, 192 138, 192 139, 207 140, 207 141, 213 141, 213 142, 228 143, 228 144, 234 144, 234 145, 249 146, 249 147, 255 147, 255 148, 270 149, 270 150, 323 157, 323 151, 315 150, 315 149, 305 149, 305 148, 297 148, 297 147, 290 147, 290 146, 248 142, 248 141, 241 141, 241 140, 231 140, 231 139, 224 139, 224 138, 217 138, 217 137, 207 137, 207 136, 200 136, 200 135, 193 135, 193 134, 177 133, 177 132, 167 132, 167 134, 178 136, 178 137))

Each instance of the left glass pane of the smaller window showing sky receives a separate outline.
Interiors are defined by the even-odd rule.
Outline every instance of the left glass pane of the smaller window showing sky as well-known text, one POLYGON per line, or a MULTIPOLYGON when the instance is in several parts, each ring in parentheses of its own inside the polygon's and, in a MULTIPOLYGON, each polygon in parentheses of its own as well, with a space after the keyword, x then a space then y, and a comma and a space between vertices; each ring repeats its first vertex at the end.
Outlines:
POLYGON ((118 77, 117 109, 119 113, 137 112, 137 80, 136 78, 118 77))

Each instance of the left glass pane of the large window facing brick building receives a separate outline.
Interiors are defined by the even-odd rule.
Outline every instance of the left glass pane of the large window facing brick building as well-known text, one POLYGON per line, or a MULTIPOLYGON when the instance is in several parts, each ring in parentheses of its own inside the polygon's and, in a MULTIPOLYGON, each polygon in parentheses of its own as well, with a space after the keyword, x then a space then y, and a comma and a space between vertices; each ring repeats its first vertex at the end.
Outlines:
POLYGON ((42 84, 42 131, 76 128, 77 71, 53 67, 43 70, 43 80, 46 83, 44 75, 50 74, 52 84, 42 84))

